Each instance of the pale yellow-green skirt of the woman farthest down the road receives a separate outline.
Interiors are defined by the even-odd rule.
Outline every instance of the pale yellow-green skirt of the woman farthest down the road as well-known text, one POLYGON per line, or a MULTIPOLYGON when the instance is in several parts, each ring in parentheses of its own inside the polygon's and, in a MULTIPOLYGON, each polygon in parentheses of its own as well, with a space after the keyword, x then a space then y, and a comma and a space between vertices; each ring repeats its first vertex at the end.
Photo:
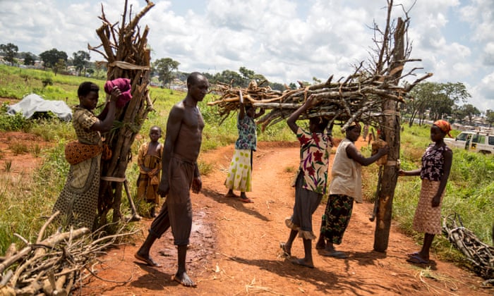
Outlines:
POLYGON ((241 192, 252 191, 251 149, 235 149, 224 185, 229 190, 239 190, 241 192))

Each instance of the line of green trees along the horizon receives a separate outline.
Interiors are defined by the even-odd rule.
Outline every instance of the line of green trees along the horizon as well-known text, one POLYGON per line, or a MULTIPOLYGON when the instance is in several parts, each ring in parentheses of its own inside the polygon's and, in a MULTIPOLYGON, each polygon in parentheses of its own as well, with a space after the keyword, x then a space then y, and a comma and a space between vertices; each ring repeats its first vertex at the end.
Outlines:
MULTIPOLYGON (((55 73, 65 73, 68 66, 73 66, 76 69, 77 75, 90 75, 95 78, 104 78, 106 67, 104 63, 91 62, 88 51, 74 52, 71 58, 65 51, 58 49, 50 49, 43 51, 39 56, 30 52, 18 52, 18 47, 15 44, 0 44, 0 54, 4 56, 4 60, 12 66, 21 59, 26 66, 34 65, 35 61, 42 61, 43 68, 51 69, 55 73)), ((152 79, 157 80, 164 87, 171 88, 171 84, 175 79, 186 81, 189 73, 179 71, 180 63, 172 58, 158 58, 151 63, 152 79)), ((278 82, 270 82, 264 75, 255 73, 246 67, 240 67, 239 71, 223 70, 215 74, 203 73, 207 79, 215 83, 224 83, 232 87, 248 87, 249 82, 255 81, 259 86, 270 87, 272 90, 294 90, 297 87, 308 86, 313 83, 320 83, 318 78, 313 78, 313 82, 290 82, 289 85, 284 85, 278 82)), ((406 82, 405 82, 406 83, 406 82)), ((402 115, 407 118, 409 125, 414 122, 423 123, 426 119, 435 121, 440 118, 447 118, 452 123, 472 123, 474 116, 480 116, 479 111, 472 104, 468 104, 468 99, 471 94, 466 90, 462 82, 422 82, 414 87, 411 92, 409 101, 402 106, 402 115)), ((493 125, 494 111, 487 110, 485 113, 486 121, 493 125)))

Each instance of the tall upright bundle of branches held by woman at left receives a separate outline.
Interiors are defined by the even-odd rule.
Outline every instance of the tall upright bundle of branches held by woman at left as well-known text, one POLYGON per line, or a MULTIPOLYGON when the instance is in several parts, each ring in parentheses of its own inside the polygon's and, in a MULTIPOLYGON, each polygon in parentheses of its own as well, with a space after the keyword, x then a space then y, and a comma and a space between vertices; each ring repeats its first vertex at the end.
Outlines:
MULTIPOLYGON (((117 109, 112 131, 106 137, 106 144, 112 149, 112 158, 102 161, 102 182, 98 200, 98 226, 107 223, 107 213, 113 209, 113 222, 121 220, 121 193, 125 172, 131 157, 131 146, 142 127, 147 113, 152 111, 152 101, 147 85, 150 76, 150 48, 147 46, 146 26, 142 34, 138 22, 153 4, 133 16, 132 6, 125 1, 120 23, 110 23, 102 7, 102 26, 96 30, 102 44, 88 48, 107 60, 107 80, 128 78, 132 85, 132 99, 122 109, 117 109), (131 18, 133 16, 133 18, 131 18), (101 51, 102 48, 104 51, 101 51)), ((130 198, 130 197, 129 197, 130 198)))

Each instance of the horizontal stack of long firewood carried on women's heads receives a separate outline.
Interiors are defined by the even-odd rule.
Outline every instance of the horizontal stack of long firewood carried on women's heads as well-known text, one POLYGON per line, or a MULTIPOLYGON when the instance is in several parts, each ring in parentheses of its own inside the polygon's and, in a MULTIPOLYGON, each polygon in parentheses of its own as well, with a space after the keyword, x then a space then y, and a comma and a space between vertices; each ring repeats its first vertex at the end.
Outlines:
POLYGON ((319 103, 301 119, 324 117, 330 125, 341 125, 346 130, 350 123, 359 121, 364 124, 380 126, 382 101, 392 99, 404 102, 400 87, 385 85, 363 75, 351 75, 344 82, 331 82, 332 76, 324 83, 301 87, 296 90, 280 92, 270 87, 259 87, 255 82, 246 89, 217 85, 215 92, 221 95, 217 101, 208 103, 218 106, 219 116, 227 118, 231 111, 239 109, 239 92, 243 94, 246 104, 261 109, 270 109, 269 113, 259 119, 262 129, 288 118, 304 101, 313 95, 319 103))

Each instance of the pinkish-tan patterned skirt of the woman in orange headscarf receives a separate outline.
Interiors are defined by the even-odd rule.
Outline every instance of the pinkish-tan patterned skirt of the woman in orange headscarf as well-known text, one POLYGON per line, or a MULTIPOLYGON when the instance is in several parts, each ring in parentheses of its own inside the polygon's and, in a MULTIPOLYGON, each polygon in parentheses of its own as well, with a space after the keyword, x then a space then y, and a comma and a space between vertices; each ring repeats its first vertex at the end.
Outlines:
POLYGON ((420 198, 415 210, 413 224, 414 230, 420 233, 441 234, 441 206, 444 191, 442 192, 439 206, 433 208, 431 205, 434 195, 438 193, 439 185, 440 181, 422 179, 420 198))

